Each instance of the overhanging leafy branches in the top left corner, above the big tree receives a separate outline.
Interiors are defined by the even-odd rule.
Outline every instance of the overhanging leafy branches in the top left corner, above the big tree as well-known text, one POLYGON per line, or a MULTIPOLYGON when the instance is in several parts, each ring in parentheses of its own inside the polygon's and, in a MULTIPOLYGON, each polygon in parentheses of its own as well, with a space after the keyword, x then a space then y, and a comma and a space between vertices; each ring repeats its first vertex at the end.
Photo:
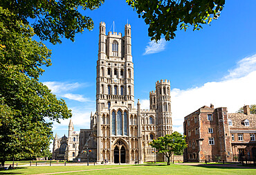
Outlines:
POLYGON ((40 39, 56 44, 61 43, 60 37, 74 41, 75 33, 82 33, 84 28, 92 30, 93 20, 82 15, 79 9, 94 10, 102 3, 104 0, 5 0, 0 1, 0 6, 16 14, 24 24, 30 19, 40 39))

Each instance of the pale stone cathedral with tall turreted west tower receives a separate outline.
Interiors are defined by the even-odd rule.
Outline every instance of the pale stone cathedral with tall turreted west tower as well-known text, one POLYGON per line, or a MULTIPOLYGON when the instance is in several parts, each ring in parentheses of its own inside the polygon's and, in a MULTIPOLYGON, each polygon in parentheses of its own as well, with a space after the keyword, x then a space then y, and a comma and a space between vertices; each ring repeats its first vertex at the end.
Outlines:
POLYGON ((74 131, 53 140, 53 159, 102 163, 164 161, 149 145, 153 139, 172 133, 170 81, 156 82, 149 92, 150 109, 134 107, 134 63, 131 56, 131 26, 125 35, 109 32, 100 22, 96 77, 96 111, 90 129, 74 131))

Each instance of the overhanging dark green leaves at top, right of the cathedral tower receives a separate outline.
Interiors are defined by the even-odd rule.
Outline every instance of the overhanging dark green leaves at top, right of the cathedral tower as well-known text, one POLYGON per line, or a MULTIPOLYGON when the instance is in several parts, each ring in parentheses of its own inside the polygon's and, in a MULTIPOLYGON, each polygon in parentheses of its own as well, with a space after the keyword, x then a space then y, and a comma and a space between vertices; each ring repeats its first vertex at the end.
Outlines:
POLYGON ((210 24, 219 17, 225 4, 225 0, 126 1, 149 24, 149 37, 156 42, 161 35, 167 41, 174 39, 177 28, 187 30, 193 26, 193 30, 200 30, 202 24, 210 24))

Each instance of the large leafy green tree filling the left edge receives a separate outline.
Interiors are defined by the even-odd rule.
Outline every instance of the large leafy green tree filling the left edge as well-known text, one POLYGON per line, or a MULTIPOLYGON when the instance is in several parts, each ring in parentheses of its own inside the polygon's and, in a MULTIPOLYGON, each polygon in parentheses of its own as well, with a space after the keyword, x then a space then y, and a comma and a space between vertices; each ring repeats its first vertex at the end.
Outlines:
POLYGON ((0 160, 38 156, 48 148, 53 121, 70 118, 38 82, 42 66, 51 66, 51 51, 32 39, 33 28, 0 7, 0 160))

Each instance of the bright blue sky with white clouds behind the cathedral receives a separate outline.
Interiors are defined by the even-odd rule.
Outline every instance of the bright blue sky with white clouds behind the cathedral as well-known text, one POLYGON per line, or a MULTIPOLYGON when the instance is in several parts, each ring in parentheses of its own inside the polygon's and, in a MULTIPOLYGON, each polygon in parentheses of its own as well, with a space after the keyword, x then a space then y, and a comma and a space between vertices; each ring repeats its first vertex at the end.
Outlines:
MULTIPOLYGON (((226 1, 219 19, 200 31, 189 28, 176 32, 176 38, 158 44, 150 42, 148 26, 125 1, 106 0, 100 8, 84 11, 94 21, 92 31, 77 34, 75 42, 44 42, 52 50, 53 66, 46 68, 40 82, 73 110, 75 130, 89 128, 95 112, 96 61, 99 23, 106 31, 124 33, 131 24, 134 59, 135 98, 148 108, 149 91, 161 79, 171 81, 174 130, 183 132, 183 118, 204 105, 228 107, 235 112, 256 99, 256 1, 226 1), (111 28, 112 26, 112 28, 111 28)), ((68 121, 55 124, 54 134, 68 133, 68 121)))

